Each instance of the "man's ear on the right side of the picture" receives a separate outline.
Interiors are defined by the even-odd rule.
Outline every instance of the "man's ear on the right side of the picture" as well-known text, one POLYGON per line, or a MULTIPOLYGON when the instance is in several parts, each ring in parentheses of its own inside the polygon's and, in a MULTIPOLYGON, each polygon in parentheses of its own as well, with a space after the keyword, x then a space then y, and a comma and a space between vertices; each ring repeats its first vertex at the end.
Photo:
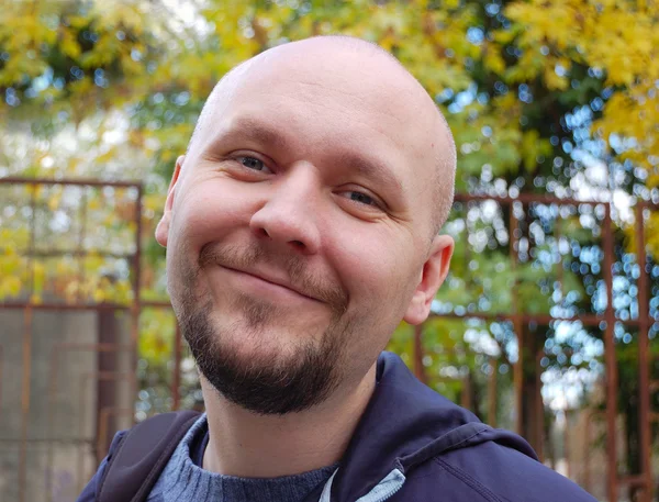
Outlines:
POLYGON ((429 256, 423 265, 421 281, 403 317, 407 323, 421 324, 427 319, 435 294, 448 275, 454 246, 450 235, 436 235, 433 239, 429 256))

